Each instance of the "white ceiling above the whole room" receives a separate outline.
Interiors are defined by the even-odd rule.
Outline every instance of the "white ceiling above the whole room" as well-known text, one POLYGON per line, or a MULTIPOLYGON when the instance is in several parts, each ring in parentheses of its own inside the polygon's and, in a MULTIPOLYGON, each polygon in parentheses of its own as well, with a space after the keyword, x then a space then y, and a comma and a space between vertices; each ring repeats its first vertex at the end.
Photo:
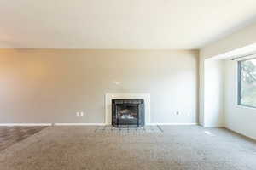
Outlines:
POLYGON ((256 0, 0 0, 0 48, 201 48, 256 0))

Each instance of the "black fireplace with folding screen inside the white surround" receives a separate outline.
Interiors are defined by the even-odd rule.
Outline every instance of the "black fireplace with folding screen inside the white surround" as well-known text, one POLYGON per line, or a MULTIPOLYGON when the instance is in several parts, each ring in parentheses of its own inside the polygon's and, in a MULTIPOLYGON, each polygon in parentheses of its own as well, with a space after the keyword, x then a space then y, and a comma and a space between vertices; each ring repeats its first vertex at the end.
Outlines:
POLYGON ((143 99, 112 99, 113 127, 143 127, 145 108, 143 99))

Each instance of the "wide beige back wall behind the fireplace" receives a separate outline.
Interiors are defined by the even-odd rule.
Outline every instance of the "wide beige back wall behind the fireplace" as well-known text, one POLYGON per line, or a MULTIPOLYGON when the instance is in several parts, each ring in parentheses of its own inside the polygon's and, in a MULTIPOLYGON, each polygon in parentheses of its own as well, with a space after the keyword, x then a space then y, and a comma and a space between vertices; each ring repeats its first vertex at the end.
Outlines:
POLYGON ((102 123, 120 92, 150 93, 151 122, 197 122, 198 51, 0 50, 0 123, 102 123))

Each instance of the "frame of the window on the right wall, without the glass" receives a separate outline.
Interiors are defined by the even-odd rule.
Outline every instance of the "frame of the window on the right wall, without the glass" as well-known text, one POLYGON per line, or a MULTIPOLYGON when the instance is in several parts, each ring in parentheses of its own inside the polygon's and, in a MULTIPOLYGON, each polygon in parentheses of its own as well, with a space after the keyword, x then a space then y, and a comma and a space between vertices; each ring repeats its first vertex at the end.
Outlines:
POLYGON ((247 61, 247 60, 253 60, 256 59, 255 57, 251 58, 251 59, 241 59, 239 61, 237 61, 237 105, 239 106, 243 106, 243 107, 248 107, 248 108, 253 108, 256 109, 256 106, 253 105, 244 105, 241 103, 241 63, 243 61, 247 61))

